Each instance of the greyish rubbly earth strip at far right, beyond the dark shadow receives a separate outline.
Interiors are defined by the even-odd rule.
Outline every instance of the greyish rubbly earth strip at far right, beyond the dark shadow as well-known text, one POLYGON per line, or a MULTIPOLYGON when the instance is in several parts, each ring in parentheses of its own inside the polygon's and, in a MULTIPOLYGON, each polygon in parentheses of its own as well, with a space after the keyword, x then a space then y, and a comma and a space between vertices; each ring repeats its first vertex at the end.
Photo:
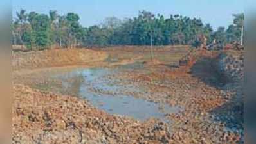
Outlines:
MULTIPOLYGON (((225 76, 229 83, 224 86, 224 92, 233 93, 232 99, 221 109, 229 109, 230 113, 235 113, 235 118, 239 123, 244 120, 244 52, 227 51, 219 55, 217 70, 219 74, 225 76)), ((223 115, 231 115, 223 113, 223 115)))

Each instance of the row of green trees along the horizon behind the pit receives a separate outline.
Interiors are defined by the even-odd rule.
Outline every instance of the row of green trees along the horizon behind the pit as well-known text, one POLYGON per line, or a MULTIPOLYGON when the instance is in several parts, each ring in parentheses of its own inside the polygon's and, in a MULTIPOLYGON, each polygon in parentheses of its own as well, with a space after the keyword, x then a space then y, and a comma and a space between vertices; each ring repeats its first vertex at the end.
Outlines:
POLYGON ((12 43, 26 45, 28 49, 50 47, 92 47, 109 45, 194 45, 215 42, 224 45, 241 41, 244 15, 233 15, 233 24, 228 29, 217 31, 200 19, 182 15, 154 15, 142 11, 137 17, 120 20, 105 19, 102 24, 84 27, 79 15, 59 15, 51 10, 48 15, 21 10, 12 24, 12 43))

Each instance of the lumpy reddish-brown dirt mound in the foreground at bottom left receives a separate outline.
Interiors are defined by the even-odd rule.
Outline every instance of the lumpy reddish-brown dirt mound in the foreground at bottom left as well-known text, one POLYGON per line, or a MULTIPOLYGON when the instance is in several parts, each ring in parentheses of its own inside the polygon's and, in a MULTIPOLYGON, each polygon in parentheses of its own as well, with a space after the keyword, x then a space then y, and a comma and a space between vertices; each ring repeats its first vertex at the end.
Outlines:
POLYGON ((169 143, 167 124, 108 115, 86 100, 14 86, 13 143, 169 143))

